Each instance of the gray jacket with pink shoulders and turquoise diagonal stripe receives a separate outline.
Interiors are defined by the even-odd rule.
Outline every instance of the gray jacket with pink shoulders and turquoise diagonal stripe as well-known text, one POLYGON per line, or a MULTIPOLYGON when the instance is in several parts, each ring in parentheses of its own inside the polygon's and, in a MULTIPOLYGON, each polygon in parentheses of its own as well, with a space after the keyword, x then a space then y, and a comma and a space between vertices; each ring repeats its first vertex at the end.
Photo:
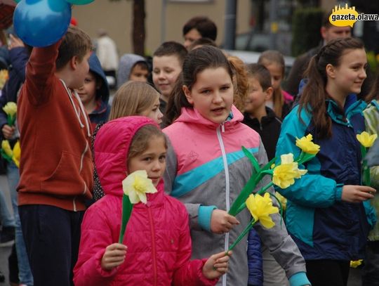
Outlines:
MULTIPOLYGON (((244 210, 238 214, 240 225, 227 234, 210 231, 213 209, 229 210, 252 174, 252 166, 241 146, 253 153, 261 166, 267 155, 260 136, 241 123, 243 115, 232 107, 230 117, 216 124, 202 117, 197 110, 182 108, 180 117, 164 129, 170 145, 164 175, 165 191, 184 202, 189 212, 192 236, 192 258, 200 259, 227 250, 251 221, 244 210)), ((257 186, 267 185, 266 176, 257 186)), ((256 191, 255 190, 255 191, 256 191)), ((270 192, 274 192, 272 188, 270 192)), ((286 271, 291 285, 307 285, 305 261, 298 247, 281 223, 279 214, 273 216, 274 228, 266 229, 256 224, 262 241, 286 271)), ((247 238, 233 249, 229 271, 218 285, 247 285, 247 238)))

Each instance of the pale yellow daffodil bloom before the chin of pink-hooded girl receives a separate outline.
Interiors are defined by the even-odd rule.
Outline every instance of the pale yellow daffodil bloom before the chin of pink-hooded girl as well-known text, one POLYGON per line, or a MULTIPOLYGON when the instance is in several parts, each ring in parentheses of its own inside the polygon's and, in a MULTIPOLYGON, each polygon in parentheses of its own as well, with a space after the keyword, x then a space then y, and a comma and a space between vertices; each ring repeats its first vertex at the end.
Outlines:
POLYGON ((152 180, 147 178, 145 170, 134 171, 122 181, 122 189, 128 195, 132 204, 143 202, 146 204, 146 193, 157 193, 152 180))

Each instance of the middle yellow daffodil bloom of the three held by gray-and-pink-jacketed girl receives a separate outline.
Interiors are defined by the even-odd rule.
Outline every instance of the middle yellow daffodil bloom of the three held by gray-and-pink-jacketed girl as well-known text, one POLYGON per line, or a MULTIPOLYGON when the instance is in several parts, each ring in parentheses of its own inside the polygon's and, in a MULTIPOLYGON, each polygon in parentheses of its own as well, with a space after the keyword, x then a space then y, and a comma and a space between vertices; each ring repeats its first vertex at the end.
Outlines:
POLYGON ((280 188, 288 188, 295 183, 295 178, 307 173, 307 170, 298 168, 298 163, 293 162, 293 154, 281 155, 281 164, 275 167, 272 174, 272 183, 280 188))

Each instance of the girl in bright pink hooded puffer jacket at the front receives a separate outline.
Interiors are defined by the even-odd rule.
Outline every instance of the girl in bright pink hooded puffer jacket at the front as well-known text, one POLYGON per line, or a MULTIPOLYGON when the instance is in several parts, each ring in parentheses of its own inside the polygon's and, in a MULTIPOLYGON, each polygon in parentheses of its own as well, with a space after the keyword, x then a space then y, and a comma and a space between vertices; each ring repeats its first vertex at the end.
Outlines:
POLYGON ((226 273, 225 252, 193 260, 184 205, 164 194, 167 143, 147 117, 122 117, 102 126, 95 139, 95 164, 105 197, 81 225, 74 284, 215 285, 226 273), (134 204, 123 244, 117 243, 125 176, 145 170, 157 193, 134 204))

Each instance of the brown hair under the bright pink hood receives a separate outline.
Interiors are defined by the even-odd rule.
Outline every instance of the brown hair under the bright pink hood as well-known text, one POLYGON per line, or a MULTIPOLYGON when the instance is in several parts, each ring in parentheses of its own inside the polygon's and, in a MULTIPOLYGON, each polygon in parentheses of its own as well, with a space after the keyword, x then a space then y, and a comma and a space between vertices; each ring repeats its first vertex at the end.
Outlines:
POLYGON ((161 131, 161 129, 153 124, 147 124, 135 132, 128 150, 127 160, 129 161, 131 158, 142 154, 142 152, 144 152, 149 147, 149 141, 154 137, 163 138, 164 147, 167 149, 166 136, 164 136, 164 133, 161 131))

